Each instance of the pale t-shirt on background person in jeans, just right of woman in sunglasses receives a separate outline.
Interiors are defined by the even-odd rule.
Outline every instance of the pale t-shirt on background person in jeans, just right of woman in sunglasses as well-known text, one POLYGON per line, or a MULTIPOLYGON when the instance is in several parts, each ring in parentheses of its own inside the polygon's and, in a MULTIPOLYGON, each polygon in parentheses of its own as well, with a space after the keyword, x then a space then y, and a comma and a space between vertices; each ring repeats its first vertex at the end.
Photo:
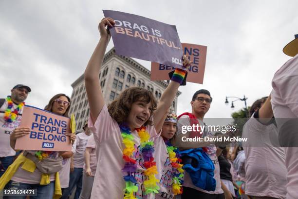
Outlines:
POLYGON ((84 154, 85 154, 85 148, 87 141, 89 139, 90 135, 86 135, 83 133, 76 134, 76 150, 74 155, 74 166, 75 168, 83 168, 84 166, 84 154))

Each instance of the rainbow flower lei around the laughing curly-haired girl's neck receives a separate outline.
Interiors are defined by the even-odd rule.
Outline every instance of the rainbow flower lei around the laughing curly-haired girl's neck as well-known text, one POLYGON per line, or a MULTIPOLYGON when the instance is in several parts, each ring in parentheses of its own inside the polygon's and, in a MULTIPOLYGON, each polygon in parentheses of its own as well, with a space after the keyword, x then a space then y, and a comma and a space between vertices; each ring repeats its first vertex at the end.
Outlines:
MULTIPOLYGON (((133 152, 135 152, 134 148, 134 141, 133 136, 131 135, 130 128, 127 124, 120 124, 119 125, 121 136, 123 138, 123 143, 125 148, 123 149, 123 159, 125 161, 125 165, 122 168, 123 172, 127 172, 126 176, 123 176, 125 181, 125 188, 124 188, 124 199, 136 199, 134 193, 138 191, 138 187, 135 185, 137 180, 132 175, 137 169, 137 162, 136 159, 133 157, 133 152)), ((143 182, 145 188, 145 195, 150 193, 158 193, 159 186, 156 184, 158 179, 155 178, 155 174, 157 174, 157 167, 156 162, 153 158, 153 141, 149 141, 150 135, 146 130, 146 127, 141 127, 136 129, 138 135, 141 139, 141 154, 142 158, 144 159, 144 167, 146 168, 145 180, 143 182)))

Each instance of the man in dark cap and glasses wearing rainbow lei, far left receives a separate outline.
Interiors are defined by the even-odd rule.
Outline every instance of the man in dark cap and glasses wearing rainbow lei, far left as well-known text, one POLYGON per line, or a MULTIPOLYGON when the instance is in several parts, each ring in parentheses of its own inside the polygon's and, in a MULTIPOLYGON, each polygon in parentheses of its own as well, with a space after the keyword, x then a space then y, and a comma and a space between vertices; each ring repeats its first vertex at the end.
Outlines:
POLYGON ((19 127, 24 101, 29 92, 31 92, 29 86, 17 84, 11 89, 11 96, 0 99, 0 177, 16 156, 16 151, 10 147, 9 136, 19 127))

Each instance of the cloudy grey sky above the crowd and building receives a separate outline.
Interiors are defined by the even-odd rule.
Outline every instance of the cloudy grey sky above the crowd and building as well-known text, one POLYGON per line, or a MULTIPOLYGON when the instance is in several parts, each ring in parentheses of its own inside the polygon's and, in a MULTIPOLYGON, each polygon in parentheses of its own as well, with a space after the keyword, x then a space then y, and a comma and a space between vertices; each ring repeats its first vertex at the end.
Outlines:
POLYGON ((270 93, 275 71, 290 59, 282 48, 298 34, 297 7, 297 0, 1 0, 0 98, 18 83, 32 88, 26 103, 40 108, 57 93, 71 95, 107 9, 174 24, 181 42, 207 46, 204 84, 180 87, 178 113, 205 88, 214 99, 205 117, 229 118, 244 103, 231 110, 225 96, 245 94, 251 105, 270 93))

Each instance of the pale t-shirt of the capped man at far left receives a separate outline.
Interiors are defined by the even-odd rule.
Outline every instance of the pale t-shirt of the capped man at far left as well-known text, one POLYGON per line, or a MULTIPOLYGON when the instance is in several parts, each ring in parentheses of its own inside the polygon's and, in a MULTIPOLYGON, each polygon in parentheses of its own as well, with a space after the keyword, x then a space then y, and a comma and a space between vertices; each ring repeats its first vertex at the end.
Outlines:
MULTIPOLYGON (((13 103, 12 111, 14 111, 18 106, 13 103)), ((7 108, 7 101, 5 100, 3 105, 0 107, 0 157, 15 156, 16 151, 10 147, 9 136, 14 131, 15 128, 19 127, 21 116, 18 115, 15 121, 6 122, 4 120, 4 112, 7 108)), ((22 114, 23 109, 19 112, 22 114)))

